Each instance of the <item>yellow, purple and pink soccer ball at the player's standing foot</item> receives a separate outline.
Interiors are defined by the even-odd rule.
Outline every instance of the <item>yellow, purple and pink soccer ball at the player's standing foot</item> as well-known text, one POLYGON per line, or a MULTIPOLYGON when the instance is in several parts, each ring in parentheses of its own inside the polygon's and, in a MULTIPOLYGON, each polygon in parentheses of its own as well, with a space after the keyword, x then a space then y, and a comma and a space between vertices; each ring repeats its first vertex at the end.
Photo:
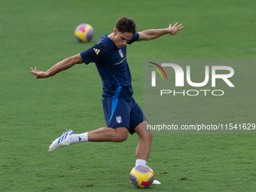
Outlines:
POLYGON ((154 172, 146 165, 135 166, 130 172, 130 180, 138 188, 147 188, 154 181, 154 172))

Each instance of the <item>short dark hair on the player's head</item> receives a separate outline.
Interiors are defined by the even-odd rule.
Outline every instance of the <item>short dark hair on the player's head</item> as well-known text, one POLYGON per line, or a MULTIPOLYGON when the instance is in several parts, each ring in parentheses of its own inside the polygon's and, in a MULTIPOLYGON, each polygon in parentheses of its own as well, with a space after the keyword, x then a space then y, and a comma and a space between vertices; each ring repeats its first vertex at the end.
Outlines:
POLYGON ((122 17, 119 20, 117 20, 117 25, 115 26, 117 28, 117 31, 120 33, 123 32, 132 32, 133 34, 136 33, 136 24, 134 20, 122 17))

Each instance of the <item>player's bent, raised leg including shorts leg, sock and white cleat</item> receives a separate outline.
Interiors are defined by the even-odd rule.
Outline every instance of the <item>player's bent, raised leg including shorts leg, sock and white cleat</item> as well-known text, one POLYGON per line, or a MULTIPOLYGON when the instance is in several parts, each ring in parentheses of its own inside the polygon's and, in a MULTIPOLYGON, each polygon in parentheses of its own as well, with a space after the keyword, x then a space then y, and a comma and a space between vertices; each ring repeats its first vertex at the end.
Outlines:
POLYGON ((126 100, 103 97, 102 105, 108 127, 82 134, 75 134, 72 130, 67 130, 66 133, 55 139, 50 145, 49 151, 52 152, 78 142, 124 142, 128 137, 127 127, 130 125, 130 111, 126 100))

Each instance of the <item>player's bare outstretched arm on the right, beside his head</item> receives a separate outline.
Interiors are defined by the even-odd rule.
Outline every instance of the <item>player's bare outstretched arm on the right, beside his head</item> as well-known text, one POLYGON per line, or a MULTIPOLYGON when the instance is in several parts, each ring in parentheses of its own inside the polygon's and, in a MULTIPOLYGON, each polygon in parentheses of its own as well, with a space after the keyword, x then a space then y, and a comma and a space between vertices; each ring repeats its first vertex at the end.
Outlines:
POLYGON ((169 27, 165 29, 148 29, 143 32, 139 32, 139 39, 137 41, 148 41, 166 34, 175 35, 182 28, 182 24, 178 25, 178 23, 175 23, 174 26, 170 24, 169 27))

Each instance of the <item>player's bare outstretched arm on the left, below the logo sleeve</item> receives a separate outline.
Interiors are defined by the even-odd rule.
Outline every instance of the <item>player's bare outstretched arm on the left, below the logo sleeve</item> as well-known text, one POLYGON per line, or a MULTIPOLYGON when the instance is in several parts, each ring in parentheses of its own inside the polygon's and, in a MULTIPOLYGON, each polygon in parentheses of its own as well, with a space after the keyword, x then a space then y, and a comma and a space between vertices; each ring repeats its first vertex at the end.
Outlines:
POLYGON ((81 54, 77 54, 75 56, 70 56, 67 59, 62 60, 61 62, 56 63, 56 65, 52 66, 47 72, 41 72, 36 69, 31 68, 31 73, 35 75, 35 78, 49 78, 53 75, 56 75, 58 72, 62 72, 66 69, 71 68, 75 64, 83 63, 83 59, 81 54))

